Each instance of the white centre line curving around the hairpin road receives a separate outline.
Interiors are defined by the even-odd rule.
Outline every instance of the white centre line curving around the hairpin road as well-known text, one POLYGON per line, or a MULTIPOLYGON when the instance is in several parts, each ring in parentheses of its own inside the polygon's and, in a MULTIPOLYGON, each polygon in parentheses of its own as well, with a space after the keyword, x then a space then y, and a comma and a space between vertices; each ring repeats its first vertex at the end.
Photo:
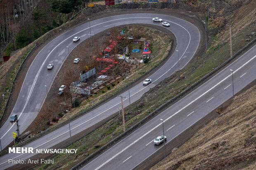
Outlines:
MULTIPOLYGON (((114 20, 111 20, 111 21, 117 21, 117 20, 122 20, 122 19, 134 19, 134 18, 150 18, 150 19, 151 19, 151 17, 128 17, 128 18, 114 19, 114 20)), ((103 23, 111 22, 111 21, 106 21, 106 22, 102 22, 102 23, 95 24, 95 25, 91 26, 91 28, 92 28, 92 27, 95 27, 95 26, 98 26, 98 25, 100 25, 100 24, 103 24, 103 23)), ((168 20, 166 20, 166 21, 168 21, 168 20)), ((172 22, 172 21, 169 21, 169 22, 174 23, 174 24, 180 26, 181 28, 185 29, 185 30, 187 31, 187 33, 189 34, 189 37, 190 37, 190 40, 191 40, 190 33, 189 33, 189 31, 188 31, 186 28, 184 28, 183 26, 181 26, 181 25, 178 24, 178 23, 175 23, 175 22, 172 22)), ((153 24, 153 25, 154 25, 154 24, 153 24)), ((83 30, 81 30, 81 31, 79 31, 79 32, 77 32, 77 33, 71 35, 70 37, 67 37, 65 40, 63 40, 62 42, 60 42, 55 48, 53 48, 52 51, 54 51, 54 50, 55 50, 60 44, 62 44, 64 41, 68 40, 69 38, 73 37, 74 35, 76 35, 76 34, 78 34, 78 33, 81 33, 81 32, 83 32, 84 30, 87 30, 87 29, 89 29, 89 28, 90 28, 90 27, 85 28, 85 29, 83 29, 83 30)), ((64 33, 63 33, 62 35, 64 35, 64 33)), ((60 37, 60 36, 62 36, 62 35, 59 35, 58 37, 60 37)), ((57 39, 58 37, 56 37, 55 39, 57 39)), ((54 39, 54 40, 55 40, 55 39, 54 39)), ((54 40, 52 40, 52 41, 54 41, 54 40)), ((188 48, 189 45, 190 45, 190 40, 189 40, 189 43, 187 44, 187 48, 188 48)), ((51 41, 51 42, 52 42, 52 41, 51 41)), ((46 47, 46 46, 45 46, 45 47, 46 47)), ((44 47, 44 48, 45 48, 45 47, 44 47)), ((197 46, 197 47, 198 47, 198 46, 197 46)), ((44 49, 44 48, 43 48, 43 49, 44 49)), ((187 48, 185 49, 184 53, 182 54, 182 56, 181 56, 180 58, 183 57, 183 55, 184 55, 185 52, 187 51, 187 48)), ((42 50, 43 50, 43 49, 42 49, 42 50)), ((41 50, 41 51, 42 51, 42 50, 41 50)), ((40 52, 41 52, 41 51, 40 51, 40 52)), ((32 91, 33 91, 33 88, 34 88, 34 86, 35 86, 35 84, 36 84, 36 80, 37 80, 37 78, 38 78, 38 75, 39 75, 41 69, 43 68, 43 65, 45 64, 45 61, 46 61, 47 58, 50 56, 50 54, 52 54, 52 51, 47 55, 47 57, 45 58, 43 64, 41 65, 41 67, 40 67, 40 69, 39 69, 39 71, 38 71, 38 73, 37 73, 37 75, 36 75, 36 79, 34 79, 34 82, 33 82, 32 88, 31 88, 31 90, 30 90, 30 92, 29 92, 29 95, 28 95, 28 98, 27 98, 27 100, 26 100, 26 103, 25 103, 25 105, 24 105, 24 107, 23 107, 21 113, 19 114, 18 119, 20 118, 20 116, 21 116, 22 113, 24 112, 24 110, 25 110, 25 108, 26 108, 26 105, 27 105, 27 103, 28 103, 28 100, 30 99, 31 93, 32 93, 32 91)), ((40 52, 39 52, 39 53, 40 53, 40 52)), ((157 78, 154 82, 156 82, 158 79, 160 79, 161 77, 163 77, 163 76, 164 76, 168 71, 170 71, 177 63, 178 63, 178 61, 177 61, 169 70, 167 70, 163 75, 161 75, 159 78, 157 78)), ((164 66, 164 65, 163 65, 163 66, 164 66)), ((163 66, 161 66, 161 68, 162 68, 163 66)), ((159 68, 158 70, 160 70, 161 68, 159 68)), ((157 70, 157 71, 158 71, 158 70, 157 70)), ((157 71, 156 71, 156 72, 157 72, 157 71)), ((152 82, 152 84, 153 84, 154 82, 152 82)), ((144 88, 147 88, 147 87, 148 87, 148 86, 146 86, 146 87, 144 87, 144 88)), ((144 88, 142 88, 140 91, 142 91, 144 88)), ((134 93, 133 95, 139 93, 140 91, 137 91, 137 92, 134 93)), ((133 95, 131 95, 131 96, 133 96, 133 95)), ((130 96, 130 97, 131 97, 131 96, 130 96)), ((124 99, 124 100, 127 100, 127 99, 128 99, 128 98, 126 98, 126 99, 124 99)), ((116 105, 119 105, 120 103, 121 103, 121 102, 117 103, 116 105)), ((113 107, 115 107, 116 105, 114 105, 113 107)), ((15 107, 15 106, 14 106, 14 107, 15 107)), ((109 109, 111 109, 111 108, 113 108, 113 107, 110 107, 109 109)), ((109 109, 107 109, 107 110, 109 110, 109 109)), ((107 110, 105 110, 104 112, 106 112, 107 110)), ((102 113, 104 113, 104 112, 102 112, 102 113)), ((102 113, 100 113, 100 114, 102 114, 102 113)), ((99 116, 100 114, 94 116, 93 118, 99 116)), ((91 119, 89 119, 89 120, 91 120, 91 119)), ((84 123, 86 123, 86 122, 87 122, 87 121, 85 121, 84 123)), ((16 122, 15 122, 15 123, 16 123, 16 122)), ((14 123, 14 124, 15 124, 15 123, 14 123)), ((6 132, 4 135, 2 135, 2 137, 0 137, 0 139, 2 139, 2 138, 9 132, 9 130, 11 130, 11 128, 14 126, 14 124, 7 130, 7 132, 6 132)), ((83 124, 83 123, 81 123, 80 125, 82 125, 82 124, 83 124)), ((78 125, 78 126, 80 126, 80 125, 78 125)), ((76 127, 78 127, 78 126, 76 126, 76 127)), ((75 128, 76 128, 76 127, 75 127, 75 128)), ((1 165, 1 164, 0 164, 0 165, 1 165)))

